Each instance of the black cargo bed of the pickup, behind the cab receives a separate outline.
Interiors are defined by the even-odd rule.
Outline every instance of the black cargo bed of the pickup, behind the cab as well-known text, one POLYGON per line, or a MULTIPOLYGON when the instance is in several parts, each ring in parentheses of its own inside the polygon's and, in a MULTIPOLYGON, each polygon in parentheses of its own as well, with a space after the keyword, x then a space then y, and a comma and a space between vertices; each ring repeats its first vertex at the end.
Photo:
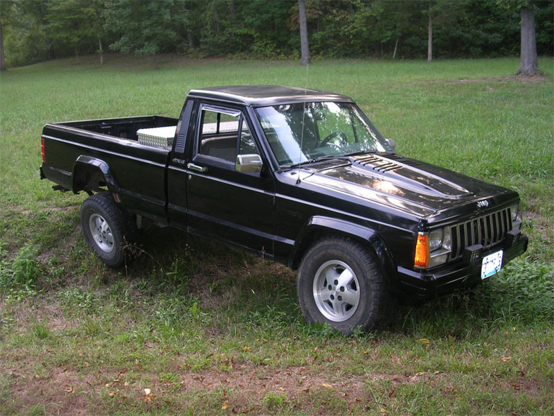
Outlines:
POLYGON ((105 164, 109 166, 119 198, 129 211, 163 223, 170 150, 139 143, 136 131, 177 125, 177 122, 178 119, 165 116, 137 116, 46 124, 42 132, 46 157, 41 175, 62 189, 75 191, 75 187, 84 189, 83 182, 96 178, 80 171, 82 157, 89 164, 105 164), (91 158, 96 162, 91 162, 91 158))

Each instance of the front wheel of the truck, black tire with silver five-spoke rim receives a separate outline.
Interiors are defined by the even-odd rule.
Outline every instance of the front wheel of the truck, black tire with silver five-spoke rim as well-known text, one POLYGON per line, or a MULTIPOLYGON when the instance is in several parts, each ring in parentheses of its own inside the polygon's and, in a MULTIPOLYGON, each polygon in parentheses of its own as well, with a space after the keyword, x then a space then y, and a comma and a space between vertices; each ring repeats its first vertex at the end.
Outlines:
POLYGON ((339 236, 318 241, 306 252, 296 288, 307 322, 327 322, 346 335, 386 326, 396 309, 373 254, 339 236))

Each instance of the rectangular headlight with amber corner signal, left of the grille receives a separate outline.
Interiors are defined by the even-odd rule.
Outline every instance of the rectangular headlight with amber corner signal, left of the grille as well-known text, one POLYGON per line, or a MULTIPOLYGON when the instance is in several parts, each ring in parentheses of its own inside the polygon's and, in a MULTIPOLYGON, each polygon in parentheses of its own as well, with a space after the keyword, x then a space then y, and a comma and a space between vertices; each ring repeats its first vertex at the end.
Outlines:
POLYGON ((429 233, 419 233, 415 243, 413 266, 429 268, 446 263, 452 248, 450 227, 437 228, 429 233))

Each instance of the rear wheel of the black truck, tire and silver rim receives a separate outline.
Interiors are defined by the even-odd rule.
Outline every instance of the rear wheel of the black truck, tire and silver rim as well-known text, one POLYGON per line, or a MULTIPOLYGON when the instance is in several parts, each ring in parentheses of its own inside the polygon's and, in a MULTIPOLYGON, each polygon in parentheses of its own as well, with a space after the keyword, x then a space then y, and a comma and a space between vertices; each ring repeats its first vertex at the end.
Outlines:
POLYGON ((127 219, 108 192, 84 200, 81 226, 84 238, 100 260, 114 268, 123 265, 127 219))

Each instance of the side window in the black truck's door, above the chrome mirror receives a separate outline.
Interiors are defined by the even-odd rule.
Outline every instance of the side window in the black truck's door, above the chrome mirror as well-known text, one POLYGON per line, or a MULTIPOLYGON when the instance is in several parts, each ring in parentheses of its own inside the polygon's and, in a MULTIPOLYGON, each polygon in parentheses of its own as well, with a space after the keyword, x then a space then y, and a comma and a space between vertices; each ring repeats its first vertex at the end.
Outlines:
POLYGON ((240 112, 203 107, 197 153, 235 163, 237 155, 258 153, 240 112))

